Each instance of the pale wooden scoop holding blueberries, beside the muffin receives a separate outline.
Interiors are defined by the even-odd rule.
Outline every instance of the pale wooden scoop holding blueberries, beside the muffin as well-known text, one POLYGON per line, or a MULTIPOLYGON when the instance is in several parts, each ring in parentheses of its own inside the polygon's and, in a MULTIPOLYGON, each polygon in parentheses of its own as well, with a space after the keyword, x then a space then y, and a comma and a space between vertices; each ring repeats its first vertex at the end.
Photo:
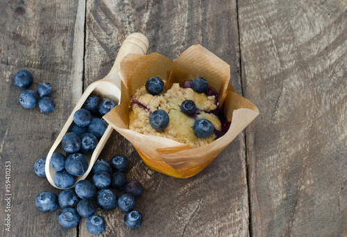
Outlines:
MULTIPOLYGON (((105 78, 101 80, 97 80, 96 82, 93 82, 83 95, 81 96, 81 99, 78 100, 78 103, 74 110, 71 112, 69 119, 67 119, 67 122, 65 123, 64 127, 62 128, 60 134, 58 135, 56 141, 53 143, 53 146, 51 147, 51 150, 49 150, 49 153, 46 158, 46 177, 48 181, 56 188, 58 188, 54 182, 54 175, 56 174, 56 170, 53 170, 50 160, 51 156, 54 152, 61 152, 62 154, 65 154, 66 152, 62 150, 61 141, 62 137, 67 133, 67 130, 69 129, 69 126, 74 121, 74 113, 81 109, 83 106, 83 103, 85 103, 85 100, 87 99, 90 94, 94 94, 96 96, 99 96, 101 99, 109 99, 115 102, 116 104, 119 103, 119 100, 121 98, 121 78, 119 77, 119 68, 120 68, 120 62, 122 58, 124 58, 125 55, 128 53, 139 53, 139 54, 146 54, 147 49, 149 48, 149 41, 147 40, 146 36, 142 35, 141 33, 133 33, 129 35, 126 40, 121 45, 121 48, 119 49, 117 58, 115 60, 115 64, 113 64, 113 67, 108 73, 105 78)), ((110 137, 110 134, 112 132, 112 127, 108 125, 108 128, 106 129, 105 133, 103 134, 103 137, 99 140, 98 145, 96 146, 94 152, 90 154, 85 154, 87 158, 89 159, 89 166, 87 169, 87 172, 85 172, 84 175, 80 177, 76 177, 76 182, 79 180, 85 179, 87 175, 90 173, 90 170, 92 170, 92 167, 94 166, 94 163, 96 159, 99 157, 101 150, 103 150, 103 146, 105 146, 106 141, 110 137)), ((76 184, 75 182, 75 184, 76 184)), ((75 185, 70 186, 69 188, 73 188, 75 185)), ((64 188, 60 188, 64 189, 64 188)))

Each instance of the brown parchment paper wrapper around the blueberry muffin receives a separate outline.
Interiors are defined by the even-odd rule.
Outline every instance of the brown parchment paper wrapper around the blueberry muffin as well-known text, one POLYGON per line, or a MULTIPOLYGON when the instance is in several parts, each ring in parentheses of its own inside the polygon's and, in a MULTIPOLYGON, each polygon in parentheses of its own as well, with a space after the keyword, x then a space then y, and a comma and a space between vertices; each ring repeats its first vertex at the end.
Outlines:
POLYGON ((201 45, 191 46, 175 62, 158 53, 129 54, 121 61, 120 76, 121 103, 103 119, 133 144, 146 166, 173 177, 199 173, 259 114, 257 107, 230 85, 230 66, 201 45), (190 148, 185 143, 129 130, 130 97, 154 76, 167 80, 165 89, 174 82, 198 77, 208 80, 219 93, 220 109, 231 121, 228 132, 208 145, 190 148))

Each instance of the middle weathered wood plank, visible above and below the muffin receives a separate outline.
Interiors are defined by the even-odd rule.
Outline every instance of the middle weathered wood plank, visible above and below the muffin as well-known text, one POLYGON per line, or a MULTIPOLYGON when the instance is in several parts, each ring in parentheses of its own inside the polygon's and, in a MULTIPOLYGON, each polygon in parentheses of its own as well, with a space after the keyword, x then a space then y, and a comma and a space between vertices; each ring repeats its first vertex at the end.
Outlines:
MULTIPOLYGON (((85 87, 103 78, 121 42, 133 32, 149 38, 149 53, 176 60, 192 44, 202 44, 231 65, 241 91, 236 1, 87 1, 85 87)), ((145 186, 135 209, 144 214, 138 229, 124 225, 118 208, 97 213, 108 222, 102 236, 248 236, 248 193, 244 136, 240 135, 203 172, 175 179, 146 168, 131 144, 113 132, 101 157, 127 155, 128 179, 145 186)), ((81 236, 91 236, 85 219, 81 236)))

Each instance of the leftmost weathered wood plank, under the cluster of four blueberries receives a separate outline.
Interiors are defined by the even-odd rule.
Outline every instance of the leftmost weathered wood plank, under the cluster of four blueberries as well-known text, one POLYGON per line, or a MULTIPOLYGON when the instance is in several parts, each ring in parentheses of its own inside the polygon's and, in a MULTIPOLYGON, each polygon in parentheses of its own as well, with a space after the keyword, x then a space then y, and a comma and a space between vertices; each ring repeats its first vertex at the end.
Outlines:
POLYGON ((51 143, 82 93, 84 1, 0 2, 0 164, 1 236, 76 236, 77 229, 58 224, 59 209, 43 213, 35 207, 42 191, 58 190, 33 170, 46 157, 51 143), (24 109, 15 73, 28 69, 34 82, 49 82, 56 109, 24 109), (11 232, 5 230, 5 164, 10 161, 11 232))

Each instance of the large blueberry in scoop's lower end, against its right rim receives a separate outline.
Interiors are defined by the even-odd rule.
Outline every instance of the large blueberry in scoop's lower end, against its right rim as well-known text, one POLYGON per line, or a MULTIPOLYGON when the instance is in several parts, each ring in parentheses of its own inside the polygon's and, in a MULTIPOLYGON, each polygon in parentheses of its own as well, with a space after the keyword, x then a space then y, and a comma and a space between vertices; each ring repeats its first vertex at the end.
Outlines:
POLYGON ((71 154, 65 161, 65 169, 71 175, 84 175, 88 169, 88 158, 81 153, 71 154))

